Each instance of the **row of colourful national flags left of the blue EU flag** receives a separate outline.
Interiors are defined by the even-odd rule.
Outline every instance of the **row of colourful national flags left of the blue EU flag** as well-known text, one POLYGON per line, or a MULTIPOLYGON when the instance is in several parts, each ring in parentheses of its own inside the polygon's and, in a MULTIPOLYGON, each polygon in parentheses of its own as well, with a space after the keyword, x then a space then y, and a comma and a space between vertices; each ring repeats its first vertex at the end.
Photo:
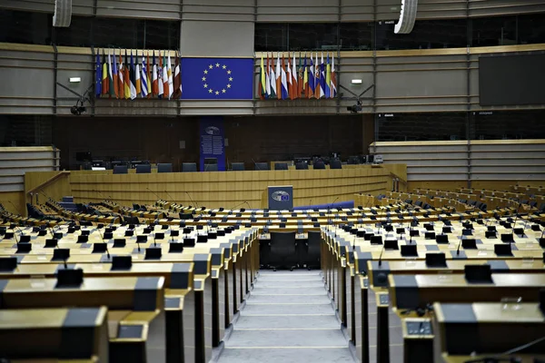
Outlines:
POLYGON ((138 63, 138 54, 133 51, 129 55, 124 52, 124 57, 119 52, 117 55, 108 50, 107 58, 103 50, 102 62, 100 54, 96 54, 96 73, 94 94, 102 98, 119 98, 134 100, 142 98, 179 99, 182 97, 182 60, 176 55, 174 64, 171 62, 170 53, 159 51, 159 61, 155 62, 155 52, 142 54, 142 63, 138 63))

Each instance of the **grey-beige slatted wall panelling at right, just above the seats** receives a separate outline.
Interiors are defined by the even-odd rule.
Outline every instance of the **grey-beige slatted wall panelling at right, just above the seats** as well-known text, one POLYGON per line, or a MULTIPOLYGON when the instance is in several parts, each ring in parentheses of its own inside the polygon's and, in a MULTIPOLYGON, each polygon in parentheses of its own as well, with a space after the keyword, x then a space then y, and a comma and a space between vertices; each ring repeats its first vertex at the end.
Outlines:
POLYGON ((540 185, 545 181, 544 140, 377 142, 376 148, 385 162, 407 164, 411 189, 433 189, 419 182, 458 181, 456 184, 466 183, 464 187, 477 182, 504 189, 501 186, 516 182, 540 185))

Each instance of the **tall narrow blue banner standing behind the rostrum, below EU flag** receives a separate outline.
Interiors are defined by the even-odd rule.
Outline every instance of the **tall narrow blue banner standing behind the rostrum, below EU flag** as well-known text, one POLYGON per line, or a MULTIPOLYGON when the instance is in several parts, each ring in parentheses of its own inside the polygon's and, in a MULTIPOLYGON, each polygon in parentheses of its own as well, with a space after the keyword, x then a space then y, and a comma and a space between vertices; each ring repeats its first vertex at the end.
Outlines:
POLYGON ((217 160, 217 170, 225 170, 225 144, 223 142, 223 117, 202 117, 199 125, 201 142, 201 172, 216 170, 212 162, 217 160), (205 159, 209 159, 205 164, 205 159))

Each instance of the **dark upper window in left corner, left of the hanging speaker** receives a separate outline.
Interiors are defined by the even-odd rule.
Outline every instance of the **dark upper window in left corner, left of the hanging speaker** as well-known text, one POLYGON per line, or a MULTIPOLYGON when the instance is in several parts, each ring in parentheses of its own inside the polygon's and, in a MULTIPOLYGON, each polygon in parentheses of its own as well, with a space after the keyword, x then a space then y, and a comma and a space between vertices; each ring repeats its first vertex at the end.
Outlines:
POLYGON ((53 15, 0 9, 0 42, 51 44, 53 15))

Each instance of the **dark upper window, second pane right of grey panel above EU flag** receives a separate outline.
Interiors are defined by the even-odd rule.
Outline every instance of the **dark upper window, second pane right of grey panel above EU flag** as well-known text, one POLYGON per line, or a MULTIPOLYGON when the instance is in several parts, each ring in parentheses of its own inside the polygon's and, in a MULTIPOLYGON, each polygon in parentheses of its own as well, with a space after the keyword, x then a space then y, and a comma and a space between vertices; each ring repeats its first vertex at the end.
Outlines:
POLYGON ((337 24, 289 24, 291 51, 337 50, 337 24))

